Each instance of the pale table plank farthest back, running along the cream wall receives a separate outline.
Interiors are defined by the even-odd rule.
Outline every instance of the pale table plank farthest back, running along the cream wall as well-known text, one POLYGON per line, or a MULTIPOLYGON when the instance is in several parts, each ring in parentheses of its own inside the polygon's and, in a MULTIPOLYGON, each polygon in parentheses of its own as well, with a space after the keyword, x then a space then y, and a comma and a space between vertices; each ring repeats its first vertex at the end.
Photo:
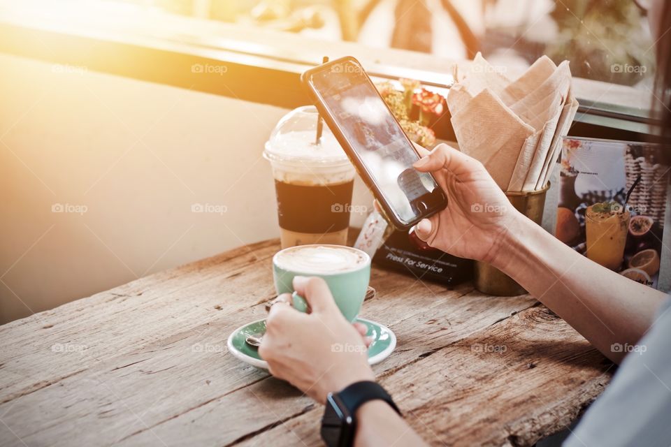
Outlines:
POLYGON ((0 402, 78 374, 91 362, 201 325, 221 312, 268 300, 275 251, 273 242, 242 247, 0 326, 0 402), (243 279, 235 281, 239 276, 243 279), (81 355, 63 356, 66 349, 81 355))

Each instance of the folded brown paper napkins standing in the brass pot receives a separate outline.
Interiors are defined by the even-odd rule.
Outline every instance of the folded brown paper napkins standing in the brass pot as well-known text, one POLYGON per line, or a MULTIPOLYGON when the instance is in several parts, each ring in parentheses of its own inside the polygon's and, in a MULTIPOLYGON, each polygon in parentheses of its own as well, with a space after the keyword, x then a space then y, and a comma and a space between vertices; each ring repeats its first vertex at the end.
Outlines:
POLYGON ((541 57, 511 82, 478 53, 456 73, 447 107, 459 149, 503 191, 536 191, 547 185, 578 101, 568 61, 541 57))

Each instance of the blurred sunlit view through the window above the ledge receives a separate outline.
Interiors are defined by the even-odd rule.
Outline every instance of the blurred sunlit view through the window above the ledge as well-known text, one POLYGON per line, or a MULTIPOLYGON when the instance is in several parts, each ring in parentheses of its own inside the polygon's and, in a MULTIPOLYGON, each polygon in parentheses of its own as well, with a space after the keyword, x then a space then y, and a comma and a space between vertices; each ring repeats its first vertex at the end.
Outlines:
MULTIPOLYGON (((64 3, 73 0, 58 0, 64 3)), ((56 3, 52 0, 52 4, 56 3)), ((654 39, 645 0, 87 0, 463 60, 514 78, 547 54, 587 82, 577 96, 647 116, 654 39)), ((421 67, 415 67, 420 68, 421 67)))

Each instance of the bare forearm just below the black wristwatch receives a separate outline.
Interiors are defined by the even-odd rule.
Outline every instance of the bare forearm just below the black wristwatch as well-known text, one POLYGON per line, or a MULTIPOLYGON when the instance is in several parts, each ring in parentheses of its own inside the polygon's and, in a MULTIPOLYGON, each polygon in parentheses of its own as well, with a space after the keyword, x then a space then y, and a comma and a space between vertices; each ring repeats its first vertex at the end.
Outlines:
POLYGON ((356 420, 356 447, 426 445, 387 402, 366 402, 356 411, 356 420))

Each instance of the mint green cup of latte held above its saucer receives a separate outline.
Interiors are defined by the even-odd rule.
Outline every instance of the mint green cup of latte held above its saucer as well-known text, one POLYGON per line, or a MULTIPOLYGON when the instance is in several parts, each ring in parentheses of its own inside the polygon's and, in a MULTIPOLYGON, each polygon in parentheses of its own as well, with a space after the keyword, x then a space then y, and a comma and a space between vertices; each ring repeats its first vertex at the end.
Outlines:
POLYGON ((307 312, 305 298, 294 291, 294 277, 320 277, 326 281, 335 305, 347 321, 354 321, 370 281, 370 256, 344 245, 299 245, 273 256, 273 279, 277 295, 291 293, 291 305, 307 312))

